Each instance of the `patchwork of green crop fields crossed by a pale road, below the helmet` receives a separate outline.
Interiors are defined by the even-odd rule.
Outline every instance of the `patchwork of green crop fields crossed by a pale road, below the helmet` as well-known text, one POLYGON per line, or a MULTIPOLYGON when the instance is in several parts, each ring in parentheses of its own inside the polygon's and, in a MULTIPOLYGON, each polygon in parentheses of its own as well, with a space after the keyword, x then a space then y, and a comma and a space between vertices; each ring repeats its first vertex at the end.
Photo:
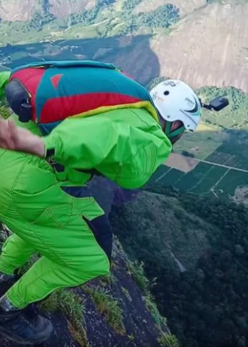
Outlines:
POLYGON ((200 195, 234 196, 239 187, 248 187, 248 131, 222 129, 200 124, 195 133, 186 133, 174 152, 198 159, 190 172, 159 168, 151 181, 200 195))

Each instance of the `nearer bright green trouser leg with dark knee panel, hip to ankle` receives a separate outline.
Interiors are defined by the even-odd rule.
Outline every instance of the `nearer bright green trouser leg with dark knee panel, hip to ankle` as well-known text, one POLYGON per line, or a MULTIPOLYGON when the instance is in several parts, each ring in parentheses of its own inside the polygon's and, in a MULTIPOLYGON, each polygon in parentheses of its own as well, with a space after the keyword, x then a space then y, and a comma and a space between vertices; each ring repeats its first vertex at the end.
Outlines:
POLYGON ((64 192, 45 160, 9 152, 0 156, 1 173, 11 164, 15 177, 0 183, 0 219, 42 254, 6 293, 12 304, 22 309, 56 289, 108 274, 112 231, 95 199, 64 192), (5 209, 1 210, 1 205, 5 209))

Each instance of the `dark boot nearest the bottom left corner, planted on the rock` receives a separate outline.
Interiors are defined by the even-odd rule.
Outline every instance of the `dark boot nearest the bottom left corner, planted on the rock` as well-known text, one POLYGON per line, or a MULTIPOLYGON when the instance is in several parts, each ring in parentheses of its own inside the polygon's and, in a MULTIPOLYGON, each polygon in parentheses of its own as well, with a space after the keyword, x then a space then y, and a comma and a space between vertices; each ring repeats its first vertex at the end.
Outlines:
POLYGON ((20 345, 37 345, 47 341, 52 331, 52 323, 38 313, 35 304, 18 310, 5 296, 0 299, 0 334, 9 340, 20 345))

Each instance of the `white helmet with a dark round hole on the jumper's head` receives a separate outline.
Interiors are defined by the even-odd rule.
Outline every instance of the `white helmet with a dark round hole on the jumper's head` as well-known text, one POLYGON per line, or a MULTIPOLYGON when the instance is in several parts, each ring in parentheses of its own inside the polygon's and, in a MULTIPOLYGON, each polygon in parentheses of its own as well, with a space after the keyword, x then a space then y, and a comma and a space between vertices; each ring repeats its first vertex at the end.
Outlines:
MULTIPOLYGON (((177 79, 168 79, 152 88, 150 91, 153 103, 160 116, 168 122, 181 120, 184 126, 173 131, 173 136, 182 131, 194 131, 200 121, 202 108, 200 100, 185 82, 177 79)), ((168 123, 166 134, 169 135, 168 123)))

